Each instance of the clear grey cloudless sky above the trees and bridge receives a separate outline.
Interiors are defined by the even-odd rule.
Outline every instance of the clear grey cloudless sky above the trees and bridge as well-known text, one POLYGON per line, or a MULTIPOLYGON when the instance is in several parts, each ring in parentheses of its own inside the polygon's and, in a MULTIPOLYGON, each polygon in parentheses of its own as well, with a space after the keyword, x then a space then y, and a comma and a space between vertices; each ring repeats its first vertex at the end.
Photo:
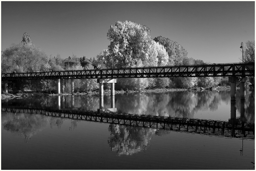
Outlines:
POLYGON ((240 62, 240 43, 255 40, 255 2, 1 1, 1 50, 27 32, 47 55, 96 57, 115 21, 146 25, 151 37, 181 44, 204 62, 240 62))

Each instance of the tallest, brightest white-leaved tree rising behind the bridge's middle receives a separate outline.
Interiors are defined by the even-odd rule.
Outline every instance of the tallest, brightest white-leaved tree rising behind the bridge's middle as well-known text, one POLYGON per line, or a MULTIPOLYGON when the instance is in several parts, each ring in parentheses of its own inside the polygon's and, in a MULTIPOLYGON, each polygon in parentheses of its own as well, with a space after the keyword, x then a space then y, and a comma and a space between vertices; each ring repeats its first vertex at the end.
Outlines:
POLYGON ((108 46, 106 66, 112 66, 111 53, 115 67, 135 67, 141 63, 144 66, 158 64, 157 45, 153 43, 147 26, 132 21, 117 21, 115 25, 110 26, 107 37, 111 42, 108 46))

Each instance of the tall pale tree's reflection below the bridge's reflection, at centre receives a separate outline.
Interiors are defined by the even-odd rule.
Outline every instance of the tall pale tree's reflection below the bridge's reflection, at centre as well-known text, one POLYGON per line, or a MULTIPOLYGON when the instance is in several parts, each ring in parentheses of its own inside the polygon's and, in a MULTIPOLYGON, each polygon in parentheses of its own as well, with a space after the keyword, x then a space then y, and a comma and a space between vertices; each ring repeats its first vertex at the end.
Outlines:
POLYGON ((132 155, 148 149, 156 131, 151 128, 118 124, 110 124, 108 129, 111 132, 108 144, 118 156, 132 155))

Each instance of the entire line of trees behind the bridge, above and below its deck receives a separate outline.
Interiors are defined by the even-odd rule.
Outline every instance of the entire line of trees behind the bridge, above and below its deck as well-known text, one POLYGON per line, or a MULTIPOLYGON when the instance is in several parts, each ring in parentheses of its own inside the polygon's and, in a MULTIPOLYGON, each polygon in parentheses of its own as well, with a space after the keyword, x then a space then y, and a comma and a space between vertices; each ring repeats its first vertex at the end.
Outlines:
MULTIPOLYGON (((162 36, 150 37, 150 29, 132 21, 117 21, 107 32, 110 45, 96 57, 85 56, 63 58, 48 56, 36 47, 31 37, 24 33, 19 44, 1 51, 1 72, 42 72, 56 70, 82 70, 94 68, 125 68, 163 65, 206 64, 203 60, 187 57, 187 51, 177 42, 162 36), (71 68, 72 67, 72 68, 71 68)), ((247 41, 244 47, 244 61, 255 61, 255 41, 247 41)), ((249 79, 254 84, 254 77, 249 79)), ((13 81, 16 90, 56 92, 56 80, 19 80, 13 81)), ((65 93, 70 92, 70 80, 65 81, 65 93)), ((226 77, 201 78, 132 78, 118 79, 116 90, 141 90, 154 88, 194 88, 229 85, 226 77)), ((3 83, 2 83, 3 86, 3 83)), ((105 85, 109 87, 109 85, 105 85)), ((75 92, 97 90, 96 79, 75 79, 75 92)))

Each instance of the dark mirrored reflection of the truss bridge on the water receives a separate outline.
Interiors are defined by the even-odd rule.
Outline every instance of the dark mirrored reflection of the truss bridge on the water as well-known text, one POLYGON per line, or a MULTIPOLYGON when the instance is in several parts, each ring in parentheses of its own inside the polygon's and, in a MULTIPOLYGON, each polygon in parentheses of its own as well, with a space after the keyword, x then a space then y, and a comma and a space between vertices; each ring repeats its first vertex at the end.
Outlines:
POLYGON ((220 135, 226 137, 255 139, 255 124, 225 121, 200 120, 186 118, 171 118, 137 114, 98 113, 94 111, 51 109, 21 106, 1 106, 1 112, 35 113, 52 117, 61 117, 76 120, 86 120, 101 123, 115 123, 121 125, 143 126, 172 131, 185 131, 190 133, 220 135))

